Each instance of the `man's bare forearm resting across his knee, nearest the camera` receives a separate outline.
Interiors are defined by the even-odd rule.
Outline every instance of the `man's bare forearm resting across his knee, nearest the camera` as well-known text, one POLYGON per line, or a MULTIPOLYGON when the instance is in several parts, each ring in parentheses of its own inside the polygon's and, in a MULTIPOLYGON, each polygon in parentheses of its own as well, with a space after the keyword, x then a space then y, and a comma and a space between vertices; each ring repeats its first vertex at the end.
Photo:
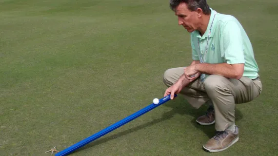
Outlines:
MULTIPOLYGON (((238 64, 241 65, 241 64, 238 64)), ((241 65, 244 68, 244 64, 241 65)), ((218 63, 218 64, 209 64, 209 63, 199 63, 196 64, 196 71, 200 73, 205 73, 209 75, 220 75, 226 78, 241 78, 243 74, 243 69, 238 70, 235 68, 235 65, 228 63, 218 63)))

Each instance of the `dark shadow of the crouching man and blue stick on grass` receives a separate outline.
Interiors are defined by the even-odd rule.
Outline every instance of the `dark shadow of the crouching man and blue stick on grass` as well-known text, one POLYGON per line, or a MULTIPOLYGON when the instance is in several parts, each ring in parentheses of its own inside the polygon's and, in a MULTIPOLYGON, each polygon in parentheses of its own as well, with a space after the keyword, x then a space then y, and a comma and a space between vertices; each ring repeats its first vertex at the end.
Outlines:
MULTIPOLYGON (((84 150, 84 149, 88 149, 88 148, 91 148, 93 146, 97 146, 99 144, 102 144, 102 143, 105 143, 107 141, 113 140, 114 138, 125 136, 129 133, 139 131, 143 128, 146 128, 146 127, 152 126, 154 124, 157 124, 159 122, 162 122, 164 120, 170 119, 170 118, 174 117, 175 114, 179 114, 179 115, 185 115, 186 114, 186 115, 190 115, 190 116, 194 117, 194 119, 190 122, 190 124, 193 124, 195 127, 202 130, 208 136, 208 138, 211 138, 211 137, 214 136, 214 134, 215 134, 214 125, 203 126, 203 125, 199 125, 195 121, 195 118, 203 115, 206 112, 206 109, 207 109, 206 105, 203 105, 199 109, 195 109, 184 98, 178 97, 174 101, 163 104, 163 106, 172 108, 172 110, 164 113, 161 118, 158 118, 158 119, 155 119, 153 121, 142 124, 140 126, 122 131, 122 132, 114 134, 112 136, 103 137, 103 138, 100 138, 98 140, 95 140, 92 143, 78 149, 75 152, 78 152, 78 151, 81 151, 81 150, 84 150)), ((243 116, 242 116, 241 112, 238 109, 236 109, 236 121, 240 120, 242 117, 243 116)), ((184 123, 184 124, 189 124, 189 123, 184 123)))

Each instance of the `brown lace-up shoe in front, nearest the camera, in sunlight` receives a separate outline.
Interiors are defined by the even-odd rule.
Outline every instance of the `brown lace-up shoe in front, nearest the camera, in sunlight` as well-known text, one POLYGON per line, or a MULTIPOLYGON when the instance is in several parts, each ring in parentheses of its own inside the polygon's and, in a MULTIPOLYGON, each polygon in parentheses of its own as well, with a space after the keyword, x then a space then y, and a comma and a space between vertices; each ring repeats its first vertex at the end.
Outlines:
POLYGON ((205 145, 203 145, 203 148, 208 152, 220 152, 226 150, 237 141, 238 126, 236 126, 235 132, 229 130, 217 132, 214 137, 209 139, 208 142, 205 145))

